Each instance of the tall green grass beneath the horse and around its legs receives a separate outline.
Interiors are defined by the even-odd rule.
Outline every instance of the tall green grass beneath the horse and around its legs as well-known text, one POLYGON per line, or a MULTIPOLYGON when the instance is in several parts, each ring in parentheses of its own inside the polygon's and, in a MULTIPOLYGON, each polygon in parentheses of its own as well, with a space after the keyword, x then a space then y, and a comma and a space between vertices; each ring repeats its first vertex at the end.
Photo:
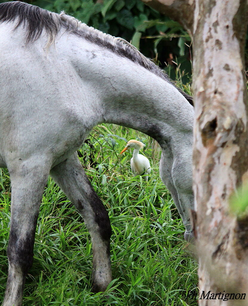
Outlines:
MULTIPOLYGON (((105 293, 91 293, 92 250, 81 216, 51 178, 43 195, 35 236, 34 263, 27 276, 24 306, 120 305, 196 306, 197 263, 183 240, 184 226, 159 178, 157 144, 142 133, 114 125, 97 126, 80 160, 105 203, 112 225, 113 282, 105 293), (130 173, 126 140, 147 146, 150 180, 130 173)), ((7 280, 6 248, 10 219, 7 170, 0 176, 0 301, 7 280)))

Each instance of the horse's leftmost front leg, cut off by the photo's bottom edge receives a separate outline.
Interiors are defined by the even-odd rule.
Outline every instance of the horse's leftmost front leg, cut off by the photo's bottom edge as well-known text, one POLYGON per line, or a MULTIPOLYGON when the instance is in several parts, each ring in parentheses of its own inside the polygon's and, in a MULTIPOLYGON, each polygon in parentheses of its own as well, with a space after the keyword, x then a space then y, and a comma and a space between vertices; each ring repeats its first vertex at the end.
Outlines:
MULTIPOLYGON (((36 157, 37 159, 37 157, 36 157)), ((31 160, 8 165, 11 180, 11 223, 7 255, 9 274, 3 306, 20 306, 24 282, 33 263, 35 228, 49 167, 31 160)))

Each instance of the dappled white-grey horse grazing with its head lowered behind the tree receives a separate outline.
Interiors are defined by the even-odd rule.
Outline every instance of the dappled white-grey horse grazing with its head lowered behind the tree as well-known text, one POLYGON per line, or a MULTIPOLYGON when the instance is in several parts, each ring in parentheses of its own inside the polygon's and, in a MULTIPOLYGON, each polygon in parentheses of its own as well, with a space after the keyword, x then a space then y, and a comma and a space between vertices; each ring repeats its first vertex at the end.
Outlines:
POLYGON ((102 122, 137 129, 161 146, 160 174, 191 235, 191 97, 126 41, 64 13, 0 4, 0 166, 11 179, 9 274, 3 306, 19 306, 33 261, 49 174, 82 215, 92 239, 93 291, 111 281, 108 213, 76 150, 102 122))

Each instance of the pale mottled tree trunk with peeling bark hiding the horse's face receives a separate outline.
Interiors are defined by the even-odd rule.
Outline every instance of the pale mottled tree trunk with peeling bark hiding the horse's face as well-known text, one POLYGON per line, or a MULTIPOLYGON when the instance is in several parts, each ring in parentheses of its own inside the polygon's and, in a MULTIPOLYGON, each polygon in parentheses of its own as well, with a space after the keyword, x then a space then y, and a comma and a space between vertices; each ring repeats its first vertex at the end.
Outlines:
POLYGON ((208 297, 212 297, 200 299, 199 305, 247 305, 248 215, 235 216, 229 209, 230 196, 248 179, 247 1, 143 1, 181 22, 193 39, 199 296, 211 291, 208 297), (183 5, 191 8, 190 17, 183 5), (235 293, 234 299, 223 301, 228 293, 235 293), (246 299, 236 299, 242 293, 246 299))

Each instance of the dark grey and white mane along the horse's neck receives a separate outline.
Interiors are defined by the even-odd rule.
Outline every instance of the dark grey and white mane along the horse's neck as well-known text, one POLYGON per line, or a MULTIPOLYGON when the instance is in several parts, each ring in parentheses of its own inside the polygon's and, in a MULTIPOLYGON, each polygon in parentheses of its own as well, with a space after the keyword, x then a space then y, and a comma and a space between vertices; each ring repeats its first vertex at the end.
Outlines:
MULTIPOLYGON (((0 22, 15 21, 16 19, 18 19, 18 22, 15 28, 18 28, 21 24, 24 24, 27 28, 27 43, 38 39, 43 29, 45 29, 48 34, 47 46, 50 46, 54 42, 60 29, 65 28, 66 31, 104 48, 108 48, 120 56, 129 58, 131 61, 140 64, 152 73, 173 84, 162 69, 141 54, 139 50, 126 40, 119 37, 113 37, 95 28, 88 27, 76 18, 66 15, 64 12, 60 14, 52 13, 38 6, 19 1, 1 3, 0 22)), ((193 99, 190 95, 186 94, 180 88, 177 88, 177 90, 181 92, 191 105, 193 105, 193 99)))

